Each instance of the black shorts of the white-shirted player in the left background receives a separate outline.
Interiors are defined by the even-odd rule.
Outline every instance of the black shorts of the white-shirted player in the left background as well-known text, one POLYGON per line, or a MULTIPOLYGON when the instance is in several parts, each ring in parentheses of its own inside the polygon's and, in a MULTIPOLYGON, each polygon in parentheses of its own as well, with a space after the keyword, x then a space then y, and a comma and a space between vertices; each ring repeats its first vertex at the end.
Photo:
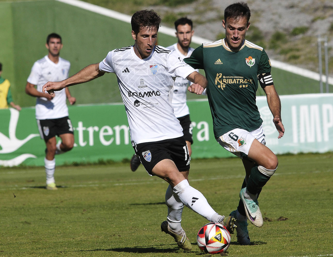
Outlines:
POLYGON ((37 120, 37 126, 39 134, 44 140, 66 133, 74 134, 72 122, 68 116, 59 119, 37 120))

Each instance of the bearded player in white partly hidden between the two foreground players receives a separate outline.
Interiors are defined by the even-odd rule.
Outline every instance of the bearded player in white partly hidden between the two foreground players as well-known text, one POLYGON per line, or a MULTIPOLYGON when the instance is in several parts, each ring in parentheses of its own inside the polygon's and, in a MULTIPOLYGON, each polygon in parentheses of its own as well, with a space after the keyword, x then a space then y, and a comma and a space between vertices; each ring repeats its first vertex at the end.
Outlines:
MULTIPOLYGON (((191 39, 194 34, 193 23, 190 19, 182 17, 174 22, 176 29, 176 37, 178 42, 168 46, 167 48, 171 51, 175 51, 180 59, 189 57, 193 52, 194 48, 190 47, 191 39)), ((198 70, 196 70, 198 71, 198 70)), ((193 143, 192 137, 192 124, 189 116, 189 109, 186 104, 186 92, 191 82, 187 79, 177 77, 173 84, 173 96, 172 96, 172 107, 173 113, 179 120, 181 127, 183 128, 184 139, 188 148, 189 156, 191 157, 192 149, 191 144, 193 143)), ((140 159, 135 154, 131 159, 131 170, 136 171, 140 165, 140 159)))

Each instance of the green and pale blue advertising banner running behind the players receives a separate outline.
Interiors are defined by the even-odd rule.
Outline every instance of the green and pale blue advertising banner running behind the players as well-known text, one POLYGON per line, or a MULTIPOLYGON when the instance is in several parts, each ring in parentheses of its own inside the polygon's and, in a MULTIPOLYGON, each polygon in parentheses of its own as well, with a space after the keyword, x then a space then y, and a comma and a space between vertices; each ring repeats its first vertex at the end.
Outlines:
MULTIPOLYGON (((266 146, 274 153, 333 151, 333 94, 281 96, 284 136, 272 122, 266 97, 257 97, 266 146)), ((233 156, 215 141, 207 100, 188 101, 193 125, 192 158, 233 156)), ((121 161, 134 153, 123 104, 69 106, 75 146, 56 155, 57 165, 121 161)), ((142 133, 146 133, 142 131, 142 133)), ((43 166, 45 143, 34 108, 0 110, 0 166, 43 166)))

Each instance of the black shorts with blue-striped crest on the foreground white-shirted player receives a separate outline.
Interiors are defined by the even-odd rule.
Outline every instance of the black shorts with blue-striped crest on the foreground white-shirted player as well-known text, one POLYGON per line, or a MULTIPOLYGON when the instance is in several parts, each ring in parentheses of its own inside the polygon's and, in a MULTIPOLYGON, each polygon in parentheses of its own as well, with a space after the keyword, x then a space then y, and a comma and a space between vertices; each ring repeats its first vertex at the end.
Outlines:
POLYGON ((151 176, 155 165, 165 159, 172 160, 179 171, 189 170, 189 154, 183 137, 141 143, 133 148, 151 176))

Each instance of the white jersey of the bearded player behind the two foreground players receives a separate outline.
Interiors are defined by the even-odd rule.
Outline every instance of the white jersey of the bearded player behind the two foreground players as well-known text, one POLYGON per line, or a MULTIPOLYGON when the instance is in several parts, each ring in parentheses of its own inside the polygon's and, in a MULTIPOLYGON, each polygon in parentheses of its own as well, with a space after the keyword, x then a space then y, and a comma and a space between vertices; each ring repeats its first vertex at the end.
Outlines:
MULTIPOLYGON (((177 48, 177 43, 168 46, 168 49, 174 51, 180 59, 189 57, 193 52, 194 48, 188 48, 187 55, 183 55, 177 48)), ((198 70, 196 70, 198 71, 198 70)), ((188 106, 186 104, 186 92, 187 87, 192 84, 186 78, 176 78, 173 85, 173 97, 172 97, 172 107, 174 110, 174 115, 179 118, 189 114, 188 106)))

